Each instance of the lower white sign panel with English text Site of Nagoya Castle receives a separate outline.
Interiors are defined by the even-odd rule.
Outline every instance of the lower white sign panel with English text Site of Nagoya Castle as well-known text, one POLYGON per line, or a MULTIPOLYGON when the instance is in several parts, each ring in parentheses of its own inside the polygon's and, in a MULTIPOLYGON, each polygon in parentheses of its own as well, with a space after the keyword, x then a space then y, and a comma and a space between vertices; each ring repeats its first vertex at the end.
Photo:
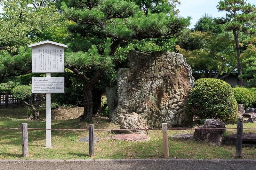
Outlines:
POLYGON ((64 93, 64 77, 33 77, 33 93, 64 93))

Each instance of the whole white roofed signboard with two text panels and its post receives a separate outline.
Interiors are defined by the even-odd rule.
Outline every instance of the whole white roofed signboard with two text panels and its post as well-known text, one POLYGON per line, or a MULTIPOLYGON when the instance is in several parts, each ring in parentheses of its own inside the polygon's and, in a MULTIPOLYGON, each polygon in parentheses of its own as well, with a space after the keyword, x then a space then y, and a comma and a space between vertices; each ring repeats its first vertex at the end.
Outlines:
POLYGON ((64 72, 64 47, 67 45, 44 41, 31 44, 32 72, 46 73, 46 78, 32 79, 33 93, 46 93, 46 148, 51 145, 51 93, 64 92, 64 78, 51 78, 51 73, 64 72))

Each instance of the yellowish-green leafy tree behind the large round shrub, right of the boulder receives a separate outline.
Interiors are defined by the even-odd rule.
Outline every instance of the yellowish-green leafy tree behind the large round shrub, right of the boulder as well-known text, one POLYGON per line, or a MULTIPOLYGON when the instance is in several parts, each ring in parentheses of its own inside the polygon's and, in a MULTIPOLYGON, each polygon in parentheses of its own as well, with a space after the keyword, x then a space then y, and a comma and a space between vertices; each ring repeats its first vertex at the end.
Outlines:
POLYGON ((187 58, 194 72, 204 72, 207 78, 219 78, 225 71, 226 74, 220 77, 222 79, 234 71, 236 63, 232 57, 233 41, 228 34, 196 31, 189 33, 188 37, 192 43, 200 42, 198 49, 192 48, 189 51, 176 46, 176 50, 187 58))

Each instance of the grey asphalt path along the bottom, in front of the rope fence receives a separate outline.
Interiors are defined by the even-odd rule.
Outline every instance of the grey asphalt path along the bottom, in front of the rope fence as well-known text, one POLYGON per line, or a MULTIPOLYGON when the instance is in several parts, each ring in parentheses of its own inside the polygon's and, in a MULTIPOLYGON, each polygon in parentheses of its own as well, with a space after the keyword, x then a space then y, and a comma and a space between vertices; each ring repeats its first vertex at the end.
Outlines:
POLYGON ((1 170, 256 170, 256 160, 190 159, 68 159, 0 160, 1 170))

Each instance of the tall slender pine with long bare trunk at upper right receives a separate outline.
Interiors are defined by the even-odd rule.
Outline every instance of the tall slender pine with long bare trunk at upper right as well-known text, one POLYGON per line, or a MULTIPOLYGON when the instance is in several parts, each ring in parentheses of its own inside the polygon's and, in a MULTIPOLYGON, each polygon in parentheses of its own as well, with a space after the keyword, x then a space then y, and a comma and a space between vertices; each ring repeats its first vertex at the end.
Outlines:
MULTIPOLYGON (((241 70, 241 46, 239 42, 239 34, 241 32, 253 34, 256 32, 256 27, 251 26, 251 22, 256 19, 255 5, 246 3, 245 0, 224 0, 217 5, 218 11, 227 11, 226 16, 217 18, 215 21, 218 24, 225 24, 226 29, 233 32, 236 42, 237 54, 237 70, 238 75, 242 75, 241 70)), ((243 86, 243 79, 240 77, 240 85, 243 86)))

